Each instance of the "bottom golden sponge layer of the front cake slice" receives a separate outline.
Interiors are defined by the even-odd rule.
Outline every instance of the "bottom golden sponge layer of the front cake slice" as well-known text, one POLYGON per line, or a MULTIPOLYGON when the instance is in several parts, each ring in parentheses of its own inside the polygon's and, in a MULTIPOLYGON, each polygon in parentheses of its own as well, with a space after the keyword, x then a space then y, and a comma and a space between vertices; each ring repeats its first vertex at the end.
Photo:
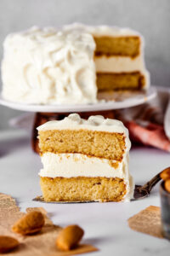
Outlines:
POLYGON ((126 184, 121 178, 41 177, 45 201, 123 201, 126 184))

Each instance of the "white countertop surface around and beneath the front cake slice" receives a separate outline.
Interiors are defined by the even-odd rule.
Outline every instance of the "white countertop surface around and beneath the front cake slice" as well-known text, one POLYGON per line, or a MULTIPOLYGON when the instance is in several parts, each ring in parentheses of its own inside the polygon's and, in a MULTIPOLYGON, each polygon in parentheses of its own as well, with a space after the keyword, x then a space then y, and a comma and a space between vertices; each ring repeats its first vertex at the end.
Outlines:
MULTIPOLYGON (((170 166, 169 153, 147 147, 131 149, 130 172, 137 184, 145 183, 167 166, 170 166)), ((79 224, 85 230, 83 241, 99 248, 92 255, 169 254, 169 241, 135 232, 127 225, 127 218, 145 207, 160 206, 158 185, 150 197, 129 203, 40 203, 32 201, 41 195, 37 175, 40 168, 40 158, 32 152, 26 131, 0 132, 0 192, 12 195, 22 211, 26 207, 44 207, 54 224, 79 224)))

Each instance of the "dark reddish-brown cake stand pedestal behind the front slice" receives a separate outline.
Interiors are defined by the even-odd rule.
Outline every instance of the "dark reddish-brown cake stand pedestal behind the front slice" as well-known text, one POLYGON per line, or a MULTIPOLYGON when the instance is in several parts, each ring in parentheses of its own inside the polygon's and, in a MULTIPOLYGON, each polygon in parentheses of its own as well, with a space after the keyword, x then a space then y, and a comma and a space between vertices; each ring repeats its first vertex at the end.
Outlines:
MULTIPOLYGON (((38 147, 38 139, 37 139, 37 127, 39 125, 43 125, 44 123, 52 120, 61 120, 68 116, 71 112, 66 113, 42 113, 37 112, 35 113, 35 119, 32 127, 32 134, 31 134, 31 146, 34 152, 39 152, 38 147)), ((90 115, 103 115, 105 118, 114 119, 115 114, 113 110, 107 111, 93 111, 93 112, 78 112, 82 119, 88 119, 90 115)))

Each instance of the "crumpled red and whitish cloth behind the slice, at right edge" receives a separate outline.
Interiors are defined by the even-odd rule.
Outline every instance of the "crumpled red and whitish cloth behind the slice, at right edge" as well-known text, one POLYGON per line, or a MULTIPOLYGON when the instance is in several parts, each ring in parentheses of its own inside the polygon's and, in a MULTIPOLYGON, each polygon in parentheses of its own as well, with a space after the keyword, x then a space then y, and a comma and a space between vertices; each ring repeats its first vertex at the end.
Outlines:
POLYGON ((127 126, 133 143, 170 152, 170 93, 158 90, 154 100, 138 107, 116 111, 116 119, 127 126))

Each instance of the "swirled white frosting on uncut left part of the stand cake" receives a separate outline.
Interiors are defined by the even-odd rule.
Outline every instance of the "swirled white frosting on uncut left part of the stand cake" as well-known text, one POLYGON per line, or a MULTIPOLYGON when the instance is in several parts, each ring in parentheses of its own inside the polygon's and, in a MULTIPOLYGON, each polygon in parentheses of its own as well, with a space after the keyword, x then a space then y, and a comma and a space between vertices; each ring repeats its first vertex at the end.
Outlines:
POLYGON ((86 32, 32 28, 8 35, 3 97, 25 103, 96 102, 94 38, 86 32))

